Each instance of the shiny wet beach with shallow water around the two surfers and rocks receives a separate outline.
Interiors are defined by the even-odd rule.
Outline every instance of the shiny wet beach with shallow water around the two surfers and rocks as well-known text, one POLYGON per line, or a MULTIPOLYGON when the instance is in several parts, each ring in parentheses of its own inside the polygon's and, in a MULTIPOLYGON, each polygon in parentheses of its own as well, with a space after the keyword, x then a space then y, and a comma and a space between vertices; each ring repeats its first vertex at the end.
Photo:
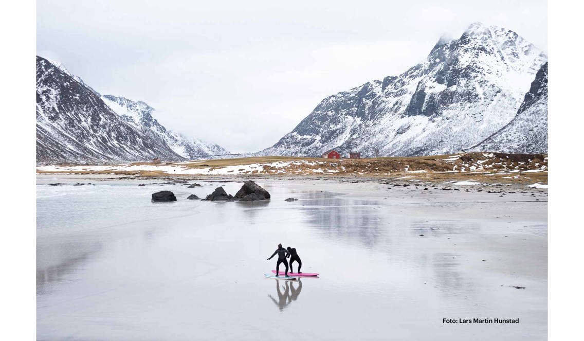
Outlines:
POLYGON ((422 204, 406 216, 298 180, 258 181, 270 201, 226 203, 186 197, 220 185, 234 194, 241 183, 56 179, 37 180, 39 339, 546 339, 547 262, 533 265, 533 248, 516 247, 545 245, 545 222, 436 220, 422 204), (78 181, 95 185, 46 185, 78 181), (178 201, 151 203, 158 190, 178 201), (263 277, 279 242, 321 276, 263 277))

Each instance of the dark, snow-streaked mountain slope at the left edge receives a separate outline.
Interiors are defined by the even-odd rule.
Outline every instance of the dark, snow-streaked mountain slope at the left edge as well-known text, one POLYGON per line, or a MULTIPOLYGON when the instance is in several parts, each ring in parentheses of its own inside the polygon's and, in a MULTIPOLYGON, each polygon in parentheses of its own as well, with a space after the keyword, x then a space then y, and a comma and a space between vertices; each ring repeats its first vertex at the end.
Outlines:
MULTIPOLYGON (((183 161, 192 159, 197 150, 199 157, 223 150, 210 144, 208 148, 193 147, 189 157, 183 156, 165 138, 142 130, 144 122, 132 123, 120 116, 81 78, 55 64, 37 56, 37 163, 183 161)), ((152 125, 166 131, 150 119, 152 125)))

